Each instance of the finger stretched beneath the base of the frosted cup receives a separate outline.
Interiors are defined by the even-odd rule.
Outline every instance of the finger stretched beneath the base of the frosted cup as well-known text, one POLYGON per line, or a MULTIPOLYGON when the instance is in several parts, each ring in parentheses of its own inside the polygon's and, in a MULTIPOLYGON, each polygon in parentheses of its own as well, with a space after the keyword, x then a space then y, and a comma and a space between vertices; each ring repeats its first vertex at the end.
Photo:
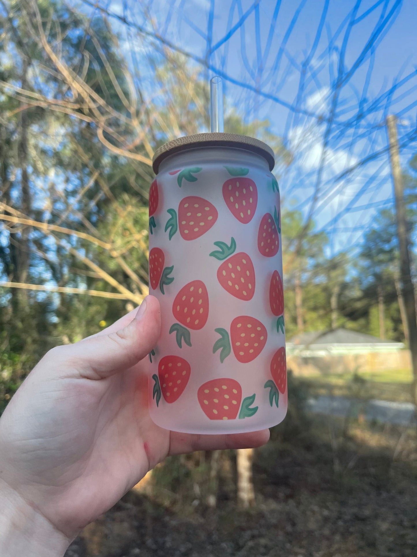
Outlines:
POLYGON ((269 440, 269 429, 250 433, 200 435, 171 431, 170 455, 193 451, 216 451, 217 449, 247 449, 261 447, 269 440))

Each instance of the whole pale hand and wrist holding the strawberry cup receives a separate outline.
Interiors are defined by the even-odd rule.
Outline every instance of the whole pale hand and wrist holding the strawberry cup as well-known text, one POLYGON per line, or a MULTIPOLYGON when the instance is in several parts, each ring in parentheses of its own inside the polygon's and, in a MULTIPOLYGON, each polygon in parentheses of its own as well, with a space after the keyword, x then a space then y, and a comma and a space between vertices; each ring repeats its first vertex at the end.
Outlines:
POLYGON ((269 431, 202 436, 149 416, 147 354, 160 308, 49 351, 0 419, 0 555, 61 557, 89 522, 168 455, 259 447, 269 431))

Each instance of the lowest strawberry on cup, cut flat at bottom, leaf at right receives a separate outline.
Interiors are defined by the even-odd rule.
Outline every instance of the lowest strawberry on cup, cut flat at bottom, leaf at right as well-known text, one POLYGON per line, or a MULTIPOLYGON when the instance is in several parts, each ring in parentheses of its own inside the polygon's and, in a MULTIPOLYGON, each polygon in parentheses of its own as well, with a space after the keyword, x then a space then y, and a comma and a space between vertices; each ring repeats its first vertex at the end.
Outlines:
POLYGON ((249 418, 256 414, 257 406, 251 408, 255 402, 255 394, 242 400, 242 387, 235 379, 212 379, 201 385, 197 392, 198 402, 202 411, 209 419, 249 418), (239 412, 240 409, 240 412, 239 412))

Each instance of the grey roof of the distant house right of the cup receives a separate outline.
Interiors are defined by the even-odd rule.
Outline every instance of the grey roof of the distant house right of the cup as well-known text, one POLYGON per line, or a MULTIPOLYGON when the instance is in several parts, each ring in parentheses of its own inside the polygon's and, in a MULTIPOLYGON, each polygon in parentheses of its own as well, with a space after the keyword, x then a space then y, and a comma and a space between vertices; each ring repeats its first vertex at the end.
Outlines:
POLYGON ((348 329, 335 329, 333 331, 317 331, 315 333, 302 333, 295 335, 288 341, 294 346, 311 345, 344 345, 344 344, 392 344, 399 345, 394 340, 379 339, 376 336, 357 333, 348 329))

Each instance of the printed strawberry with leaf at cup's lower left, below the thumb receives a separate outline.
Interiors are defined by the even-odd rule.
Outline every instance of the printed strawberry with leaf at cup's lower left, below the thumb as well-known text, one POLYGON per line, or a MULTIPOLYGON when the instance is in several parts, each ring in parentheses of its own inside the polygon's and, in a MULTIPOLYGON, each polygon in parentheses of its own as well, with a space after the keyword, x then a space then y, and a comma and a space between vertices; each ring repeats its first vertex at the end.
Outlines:
POLYGON ((167 403, 171 404, 181 397, 190 379, 191 367, 187 360, 180 356, 164 356, 158 365, 158 375, 152 375, 153 397, 159 406, 161 392, 167 403))

